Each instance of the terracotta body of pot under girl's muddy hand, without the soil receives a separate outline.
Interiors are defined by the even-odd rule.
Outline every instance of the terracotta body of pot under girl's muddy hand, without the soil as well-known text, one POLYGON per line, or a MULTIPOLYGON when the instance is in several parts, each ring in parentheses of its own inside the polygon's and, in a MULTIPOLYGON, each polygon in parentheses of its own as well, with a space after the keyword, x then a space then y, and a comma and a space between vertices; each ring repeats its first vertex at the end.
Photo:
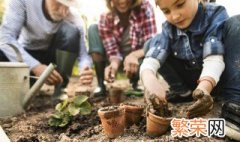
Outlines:
POLYGON ((157 116, 151 112, 147 112, 147 135, 155 138, 167 132, 172 118, 164 118, 157 116))

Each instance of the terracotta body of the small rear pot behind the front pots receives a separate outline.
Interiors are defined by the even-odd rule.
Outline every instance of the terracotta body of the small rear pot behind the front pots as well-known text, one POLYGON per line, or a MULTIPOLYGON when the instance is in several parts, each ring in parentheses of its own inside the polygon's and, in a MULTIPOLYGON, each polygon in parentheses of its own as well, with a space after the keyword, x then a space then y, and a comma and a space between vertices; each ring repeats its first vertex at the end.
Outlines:
POLYGON ((120 104, 124 100, 123 89, 122 88, 110 88, 108 97, 109 97, 109 102, 111 104, 114 104, 114 105, 120 104))

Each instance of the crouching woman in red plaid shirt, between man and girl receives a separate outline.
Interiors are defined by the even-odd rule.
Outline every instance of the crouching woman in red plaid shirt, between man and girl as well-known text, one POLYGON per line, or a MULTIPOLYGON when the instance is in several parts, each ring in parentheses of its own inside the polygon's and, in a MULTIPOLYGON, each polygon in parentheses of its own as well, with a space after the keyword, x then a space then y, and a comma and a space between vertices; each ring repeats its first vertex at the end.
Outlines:
POLYGON ((148 0, 106 0, 106 4, 109 12, 101 15, 98 25, 89 28, 89 52, 99 85, 95 96, 105 95, 104 76, 106 81, 113 82, 122 64, 136 88, 143 44, 157 30, 148 0), (106 67, 107 61, 110 64, 106 67))

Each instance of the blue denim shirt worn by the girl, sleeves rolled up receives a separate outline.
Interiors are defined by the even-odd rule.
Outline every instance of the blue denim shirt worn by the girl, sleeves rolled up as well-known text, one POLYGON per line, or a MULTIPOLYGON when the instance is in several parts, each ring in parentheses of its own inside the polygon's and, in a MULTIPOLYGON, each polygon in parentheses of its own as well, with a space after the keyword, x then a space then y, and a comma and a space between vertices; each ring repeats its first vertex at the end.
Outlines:
POLYGON ((224 54, 222 27, 228 19, 223 6, 199 4, 191 25, 181 30, 168 22, 163 23, 162 33, 145 43, 146 57, 156 58, 163 64, 172 54, 178 59, 195 64, 209 55, 224 54))

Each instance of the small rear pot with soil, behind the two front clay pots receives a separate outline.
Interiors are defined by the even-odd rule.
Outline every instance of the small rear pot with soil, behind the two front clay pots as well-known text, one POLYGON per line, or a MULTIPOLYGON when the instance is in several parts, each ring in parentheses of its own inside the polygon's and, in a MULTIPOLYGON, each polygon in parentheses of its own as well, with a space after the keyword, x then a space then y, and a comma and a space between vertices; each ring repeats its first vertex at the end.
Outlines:
POLYGON ((108 88, 109 102, 118 105, 124 100, 124 87, 119 83, 112 83, 108 88))

